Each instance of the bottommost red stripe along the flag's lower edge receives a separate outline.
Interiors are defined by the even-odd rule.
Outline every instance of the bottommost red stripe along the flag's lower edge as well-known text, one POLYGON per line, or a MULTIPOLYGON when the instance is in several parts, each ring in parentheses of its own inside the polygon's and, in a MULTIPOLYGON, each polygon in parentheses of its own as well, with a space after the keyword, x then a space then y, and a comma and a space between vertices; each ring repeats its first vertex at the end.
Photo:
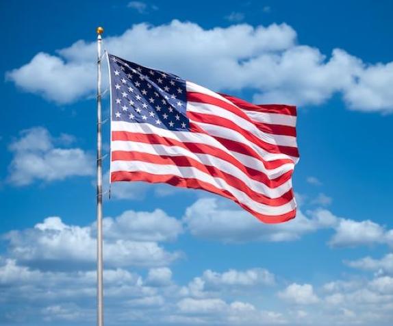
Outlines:
MULTIPOLYGON (((270 216, 259 214, 254 210, 251 210, 248 206, 240 203, 236 197, 233 197, 229 192, 226 190, 220 190, 206 182, 203 182, 199 179, 191 179, 191 178, 182 178, 178 177, 177 175, 154 175, 153 173, 146 173, 142 171, 138 172, 126 172, 126 171, 117 171, 111 173, 111 181, 147 181, 151 184, 157 183, 165 183, 171 184, 173 186, 182 187, 182 188, 194 188, 194 189, 203 189, 209 192, 213 192, 214 194, 221 195, 232 201, 238 203, 244 210, 247 210, 253 216, 257 217, 260 221, 264 223, 283 223, 286 221, 291 220, 296 216, 296 210, 292 210, 286 214, 281 214, 277 216, 270 216)), ((230 221, 228 221, 230 223, 230 221)))

